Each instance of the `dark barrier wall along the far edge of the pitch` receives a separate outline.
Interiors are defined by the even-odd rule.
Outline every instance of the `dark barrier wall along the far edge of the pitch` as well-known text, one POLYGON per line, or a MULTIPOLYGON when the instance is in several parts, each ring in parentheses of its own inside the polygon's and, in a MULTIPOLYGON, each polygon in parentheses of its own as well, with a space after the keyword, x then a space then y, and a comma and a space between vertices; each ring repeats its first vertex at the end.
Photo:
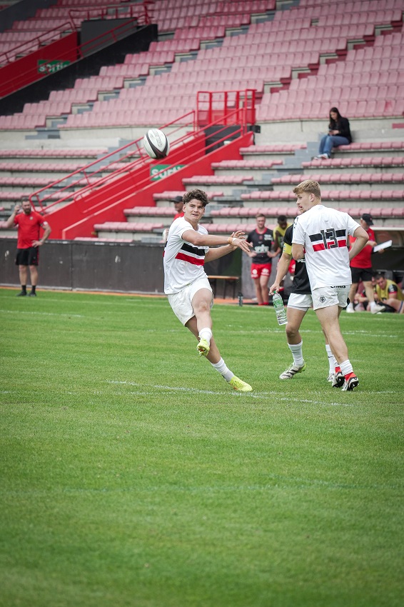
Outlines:
MULTIPOLYGON (((16 239, 0 239, 1 286, 19 286, 15 256, 16 239)), ((205 269, 207 274, 241 276, 241 251, 205 269)), ((39 251, 38 287, 163 294, 163 244, 49 240, 39 251)), ((222 288, 218 286, 219 296, 222 288)))

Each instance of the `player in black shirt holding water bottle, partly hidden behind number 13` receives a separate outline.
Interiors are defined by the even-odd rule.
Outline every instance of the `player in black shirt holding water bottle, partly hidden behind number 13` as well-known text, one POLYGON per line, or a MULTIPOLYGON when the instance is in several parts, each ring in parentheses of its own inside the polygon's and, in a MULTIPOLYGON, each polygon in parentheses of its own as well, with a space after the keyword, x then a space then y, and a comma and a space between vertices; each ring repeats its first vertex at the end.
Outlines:
MULTIPOLYGON (((295 219, 295 222, 298 218, 295 219)), ((270 287, 269 292, 273 295, 276 291, 279 291, 281 282, 285 278, 289 264, 292 259, 292 238, 293 238, 293 226, 289 226, 283 236, 283 252, 281 259, 278 262, 278 268, 276 270, 275 282, 270 287)), ((296 261, 295 276, 293 278, 293 287, 291 295, 288 300, 287 318, 288 323, 286 324, 286 338, 288 340, 288 346, 293 356, 293 363, 288 366, 286 371, 283 371, 279 376, 280 379, 292 379, 296 373, 302 373, 305 371, 305 361, 303 360, 303 340, 299 329, 301 323, 308 311, 308 308, 313 307, 313 301, 311 299, 310 281, 308 280, 308 273, 305 267, 305 260, 298 259, 296 261)), ((328 378, 327 381, 333 383, 336 361, 331 352, 331 348, 325 336, 325 350, 328 356, 328 378)))

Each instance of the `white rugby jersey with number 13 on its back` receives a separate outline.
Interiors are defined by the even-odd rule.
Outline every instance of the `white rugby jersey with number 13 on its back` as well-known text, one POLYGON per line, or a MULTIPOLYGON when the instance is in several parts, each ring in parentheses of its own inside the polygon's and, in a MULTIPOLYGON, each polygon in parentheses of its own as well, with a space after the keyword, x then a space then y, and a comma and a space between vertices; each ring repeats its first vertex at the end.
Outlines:
POLYGON ((293 239, 305 248, 305 265, 311 289, 319 286, 351 284, 348 234, 360 225, 348 213, 328 209, 322 204, 299 215, 293 239))

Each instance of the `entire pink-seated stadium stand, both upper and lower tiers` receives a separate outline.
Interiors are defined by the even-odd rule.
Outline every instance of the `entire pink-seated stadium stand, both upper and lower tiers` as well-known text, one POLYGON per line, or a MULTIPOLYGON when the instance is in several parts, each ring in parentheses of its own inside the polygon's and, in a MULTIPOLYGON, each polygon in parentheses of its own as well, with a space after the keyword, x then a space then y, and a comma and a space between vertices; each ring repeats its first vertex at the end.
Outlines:
MULTIPOLYGON (((58 0, 0 34, 0 44, 25 42, 45 24, 56 27, 67 17, 79 26, 75 9, 111 19, 116 13, 106 11, 108 4, 58 0)), ((10 147, 13 137, 21 144, 21 150, 0 149, 1 216, 14 201, 81 161, 99 158, 112 140, 192 111, 196 91, 253 88, 261 126, 256 144, 242 148, 241 159, 213 163, 211 175, 183 179, 184 190, 201 187, 210 194, 210 231, 251 229, 257 209, 273 223, 278 214, 294 216, 291 189, 307 176, 318 179, 326 204, 338 204, 354 216, 370 209, 378 226, 403 226, 403 2, 301 0, 286 8, 276 10, 274 0, 154 1, 150 11, 159 36, 148 51, 127 54, 121 64, 103 66, 97 75, 51 91, 48 99, 27 99, 23 111, 0 116, 4 146, 10 147), (312 160, 333 105, 350 119, 354 143, 340 146, 329 161, 312 160), (47 132, 74 148, 52 149, 47 132), (47 149, 31 154, 26 137, 38 134, 47 149), (307 141, 301 141, 306 134, 307 141), (91 149, 78 150, 77 141, 91 149)), ((161 187, 162 198, 154 195, 156 205, 166 204, 161 187)), ((126 224, 105 221, 94 230, 103 239, 156 241, 172 209, 146 209, 127 209, 126 224)))

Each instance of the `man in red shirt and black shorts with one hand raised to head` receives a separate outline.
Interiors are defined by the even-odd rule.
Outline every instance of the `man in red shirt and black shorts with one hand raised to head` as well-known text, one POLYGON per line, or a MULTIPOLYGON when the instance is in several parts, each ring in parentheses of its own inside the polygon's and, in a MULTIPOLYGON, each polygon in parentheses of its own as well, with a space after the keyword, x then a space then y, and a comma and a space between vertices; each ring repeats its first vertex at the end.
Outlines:
POLYGON ((31 276, 31 291, 29 296, 36 296, 36 284, 38 283, 39 247, 44 244, 51 227, 44 218, 36 213, 31 207, 29 200, 24 200, 22 205, 16 204, 14 211, 6 221, 6 227, 16 226, 18 229, 16 265, 19 266, 19 278, 21 292, 18 297, 26 296, 26 279, 28 278, 28 266, 31 276), (19 210, 22 208, 22 213, 19 210), (44 229, 44 235, 39 238, 40 228, 44 229))

